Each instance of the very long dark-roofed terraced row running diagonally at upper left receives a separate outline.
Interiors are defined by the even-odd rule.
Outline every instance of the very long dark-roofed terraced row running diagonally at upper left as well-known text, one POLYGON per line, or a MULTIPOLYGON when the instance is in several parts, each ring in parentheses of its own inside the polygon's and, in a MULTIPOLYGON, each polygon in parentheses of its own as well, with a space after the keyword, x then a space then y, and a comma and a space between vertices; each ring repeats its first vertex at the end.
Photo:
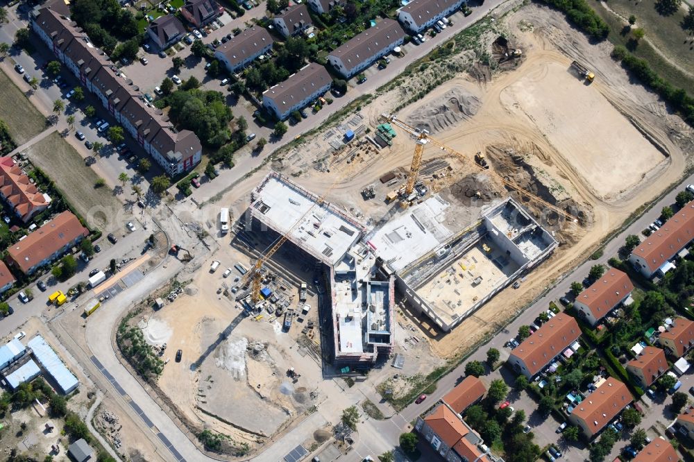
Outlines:
POLYGON ((58 60, 169 176, 198 164, 202 154, 200 139, 189 130, 176 130, 162 111, 149 108, 132 80, 124 78, 87 34, 53 8, 32 12, 31 28, 58 60))

